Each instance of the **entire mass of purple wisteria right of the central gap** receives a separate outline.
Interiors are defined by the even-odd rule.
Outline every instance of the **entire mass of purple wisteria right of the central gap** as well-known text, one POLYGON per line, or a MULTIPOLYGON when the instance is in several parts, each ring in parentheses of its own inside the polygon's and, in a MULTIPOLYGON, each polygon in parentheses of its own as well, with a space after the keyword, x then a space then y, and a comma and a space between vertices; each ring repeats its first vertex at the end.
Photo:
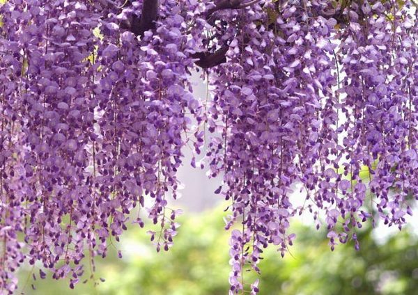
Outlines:
POLYGON ((317 228, 325 217, 332 249, 348 240, 358 248, 355 229, 367 219, 401 229, 412 214, 418 35, 410 6, 260 1, 217 12, 225 22, 215 38, 229 50, 212 71, 208 157, 212 177, 224 175, 216 193, 231 201, 226 228, 239 223, 231 294, 249 289, 243 273, 259 272, 268 244, 284 255, 295 238, 289 219, 306 209, 317 228), (295 183, 303 206, 292 200, 295 183))

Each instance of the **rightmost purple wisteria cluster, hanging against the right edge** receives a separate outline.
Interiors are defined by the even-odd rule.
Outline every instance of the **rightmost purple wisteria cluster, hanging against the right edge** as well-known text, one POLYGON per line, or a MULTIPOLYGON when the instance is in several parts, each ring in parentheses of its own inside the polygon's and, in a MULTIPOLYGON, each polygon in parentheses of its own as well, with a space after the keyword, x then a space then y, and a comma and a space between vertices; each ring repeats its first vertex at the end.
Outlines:
MULTIPOLYGON (((345 27, 335 35, 341 41, 335 53, 337 113, 330 131, 323 129, 332 140, 321 153, 334 169, 323 170, 326 183, 314 192, 318 207, 327 211, 332 248, 348 239, 358 248, 355 228, 367 219, 401 229, 404 215, 412 214, 407 199, 417 197, 417 35, 410 11, 410 3, 352 3, 343 11, 345 27)), ((329 113, 323 113, 326 118, 329 113)))

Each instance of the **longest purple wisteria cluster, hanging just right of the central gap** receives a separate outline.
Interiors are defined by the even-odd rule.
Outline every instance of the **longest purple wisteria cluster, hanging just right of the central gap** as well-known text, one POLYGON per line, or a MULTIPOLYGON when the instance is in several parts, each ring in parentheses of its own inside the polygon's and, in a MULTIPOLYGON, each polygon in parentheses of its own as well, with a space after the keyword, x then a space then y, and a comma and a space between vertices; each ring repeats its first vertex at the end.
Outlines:
POLYGON ((336 20, 317 15, 318 6, 287 6, 279 14, 277 3, 264 4, 222 15, 240 25, 219 33, 229 42, 229 61, 212 81, 209 125, 222 136, 209 144, 210 168, 213 176, 224 173, 232 202, 226 227, 241 223, 231 237, 233 293, 246 288, 247 262, 259 271, 262 248, 274 244, 284 255, 293 242, 291 185, 316 185, 318 113, 335 83, 328 39, 336 20))

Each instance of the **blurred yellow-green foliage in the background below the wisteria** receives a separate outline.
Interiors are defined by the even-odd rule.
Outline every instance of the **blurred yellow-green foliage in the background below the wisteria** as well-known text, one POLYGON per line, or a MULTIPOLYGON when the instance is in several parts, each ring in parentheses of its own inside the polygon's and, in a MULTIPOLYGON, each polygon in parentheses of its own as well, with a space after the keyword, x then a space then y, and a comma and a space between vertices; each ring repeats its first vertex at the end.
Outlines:
MULTIPOLYGON (((182 226, 168 253, 156 253, 146 230, 130 228, 118 244, 122 259, 115 249, 105 260, 96 258, 95 279, 105 279, 96 287, 89 280, 72 290, 68 281, 52 280, 50 273, 45 280, 33 281, 27 268, 20 272, 18 294, 228 294, 229 232, 224 230, 224 214, 219 207, 179 218, 182 226)), ((273 247, 265 251, 260 294, 418 294, 418 239, 408 228, 377 243, 365 226, 359 232, 358 252, 352 243, 331 252, 326 232, 313 225, 295 223, 293 231, 297 238, 291 255, 282 259, 273 247)), ((251 273, 245 277, 247 282, 254 278, 251 273)))

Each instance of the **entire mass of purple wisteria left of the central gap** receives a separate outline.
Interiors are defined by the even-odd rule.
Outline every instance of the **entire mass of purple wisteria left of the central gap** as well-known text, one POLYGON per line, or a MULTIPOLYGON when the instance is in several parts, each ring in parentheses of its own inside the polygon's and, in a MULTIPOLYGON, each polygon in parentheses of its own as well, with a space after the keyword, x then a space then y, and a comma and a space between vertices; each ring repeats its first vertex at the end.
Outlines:
POLYGON ((135 207, 134 223, 144 226, 145 215, 158 225, 150 232, 157 250, 171 247, 180 212, 167 199, 176 198, 182 148, 192 141, 186 113, 200 108, 189 68, 202 30, 196 24, 193 39, 186 32, 204 6, 161 6, 164 22, 141 38, 120 29, 141 3, 1 6, 0 289, 16 289, 24 258, 73 287, 79 262, 87 255, 93 268, 135 207))

